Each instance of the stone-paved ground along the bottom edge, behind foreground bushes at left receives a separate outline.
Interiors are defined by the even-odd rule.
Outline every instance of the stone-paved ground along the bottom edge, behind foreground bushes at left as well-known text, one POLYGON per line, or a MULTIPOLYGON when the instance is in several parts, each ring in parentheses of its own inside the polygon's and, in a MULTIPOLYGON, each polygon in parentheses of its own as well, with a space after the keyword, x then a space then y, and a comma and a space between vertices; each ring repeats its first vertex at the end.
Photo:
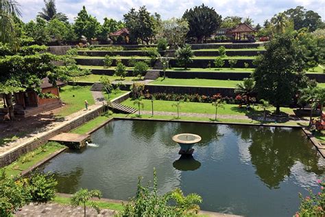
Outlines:
MULTIPOLYGON (((117 211, 110 209, 100 209, 97 214, 95 209, 86 208, 86 216, 114 216, 117 211)), ((71 205, 61 205, 58 203, 30 203, 25 205, 19 212, 16 212, 14 216, 51 216, 51 217, 69 217, 69 216, 84 216, 84 207, 73 207, 71 205)))

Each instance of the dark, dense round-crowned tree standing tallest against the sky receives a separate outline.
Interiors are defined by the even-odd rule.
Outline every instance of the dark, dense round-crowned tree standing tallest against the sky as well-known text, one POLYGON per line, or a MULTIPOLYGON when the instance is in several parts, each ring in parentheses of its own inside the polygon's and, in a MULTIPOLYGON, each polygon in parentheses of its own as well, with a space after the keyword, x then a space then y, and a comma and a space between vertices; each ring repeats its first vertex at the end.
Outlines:
POLYGON ((189 22, 188 37, 195 37, 198 43, 202 43, 204 37, 210 37, 221 25, 221 15, 215 9, 202 5, 186 10, 183 19, 189 22))

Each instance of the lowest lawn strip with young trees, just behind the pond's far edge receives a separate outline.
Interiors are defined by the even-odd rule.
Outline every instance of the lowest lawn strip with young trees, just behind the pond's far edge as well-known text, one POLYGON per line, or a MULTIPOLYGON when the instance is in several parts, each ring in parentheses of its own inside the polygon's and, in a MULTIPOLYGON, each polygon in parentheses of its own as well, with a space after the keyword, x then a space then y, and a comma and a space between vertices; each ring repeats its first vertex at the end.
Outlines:
MULTIPOLYGON (((122 102, 122 104, 126 106, 134 107, 138 109, 138 106, 133 104, 134 101, 128 99, 122 102)), ((152 110, 152 102, 151 100, 142 100, 143 102, 143 110, 151 111, 152 110)), ((177 112, 177 108, 172 106, 176 102, 173 101, 165 101, 165 100, 155 100, 154 101, 154 111, 167 111, 167 112, 177 112)), ((225 104, 225 109, 218 109, 219 115, 248 115, 251 113, 251 110, 248 111, 243 108, 239 108, 237 104, 225 104)), ((255 111, 257 113, 262 113, 262 109, 258 109, 255 106, 255 111)), ((275 107, 268 109, 271 112, 276 110, 275 107)), ((280 108, 282 112, 288 113, 289 115, 293 115, 293 110, 289 108, 280 108)), ((202 102, 184 102, 180 104, 180 113, 206 113, 206 114, 215 114, 215 107, 210 103, 202 103, 202 102)), ((233 119, 233 122, 237 122, 237 119, 233 119)))

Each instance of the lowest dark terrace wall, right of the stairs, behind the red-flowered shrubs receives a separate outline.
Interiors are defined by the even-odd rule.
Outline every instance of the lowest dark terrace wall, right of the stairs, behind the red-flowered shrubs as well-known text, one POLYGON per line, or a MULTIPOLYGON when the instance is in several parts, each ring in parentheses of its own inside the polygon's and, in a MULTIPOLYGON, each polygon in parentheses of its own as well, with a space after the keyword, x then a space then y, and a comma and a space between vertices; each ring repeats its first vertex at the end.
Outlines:
POLYGON ((228 87, 186 87, 167 85, 145 85, 145 91, 149 93, 178 93, 178 94, 199 94, 213 96, 220 93, 223 97, 235 97, 234 88, 228 87))

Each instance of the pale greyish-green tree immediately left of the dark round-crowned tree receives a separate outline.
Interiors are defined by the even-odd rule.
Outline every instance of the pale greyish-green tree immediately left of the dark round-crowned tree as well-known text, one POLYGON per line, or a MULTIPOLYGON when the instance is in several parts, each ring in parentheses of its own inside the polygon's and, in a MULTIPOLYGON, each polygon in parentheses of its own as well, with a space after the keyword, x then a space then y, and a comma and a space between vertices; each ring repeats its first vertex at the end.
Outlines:
POLYGON ((185 36, 189 32, 189 23, 186 19, 171 18, 163 21, 161 35, 167 39, 169 45, 184 45, 185 36))

